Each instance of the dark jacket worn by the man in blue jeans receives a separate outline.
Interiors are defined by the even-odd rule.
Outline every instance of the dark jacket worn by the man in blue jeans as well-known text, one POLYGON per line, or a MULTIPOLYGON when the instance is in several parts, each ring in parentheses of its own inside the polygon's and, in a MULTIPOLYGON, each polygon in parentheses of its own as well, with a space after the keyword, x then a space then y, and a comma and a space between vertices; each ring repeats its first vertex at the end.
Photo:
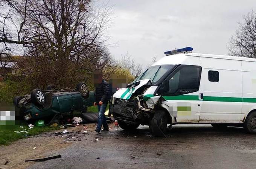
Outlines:
POLYGON ((103 80, 99 87, 96 87, 95 96, 96 96, 96 103, 99 104, 99 101, 103 102, 104 105, 108 104, 109 99, 109 84, 107 81, 103 80))

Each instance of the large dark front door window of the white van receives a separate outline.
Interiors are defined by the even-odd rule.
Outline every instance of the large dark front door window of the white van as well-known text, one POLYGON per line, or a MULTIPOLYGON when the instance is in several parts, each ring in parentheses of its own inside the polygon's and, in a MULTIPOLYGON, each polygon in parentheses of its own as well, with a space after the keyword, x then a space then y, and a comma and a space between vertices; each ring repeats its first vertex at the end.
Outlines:
POLYGON ((167 93, 180 95, 199 90, 201 67, 181 65, 174 74, 169 76, 169 91, 167 93))

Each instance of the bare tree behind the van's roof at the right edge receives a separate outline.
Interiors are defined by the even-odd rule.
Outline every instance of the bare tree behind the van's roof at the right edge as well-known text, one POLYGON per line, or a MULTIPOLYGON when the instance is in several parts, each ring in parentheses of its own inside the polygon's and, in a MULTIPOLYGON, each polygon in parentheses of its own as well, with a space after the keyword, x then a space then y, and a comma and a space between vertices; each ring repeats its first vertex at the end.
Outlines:
POLYGON ((227 48, 230 55, 256 58, 256 13, 253 10, 244 16, 244 22, 239 22, 227 48))

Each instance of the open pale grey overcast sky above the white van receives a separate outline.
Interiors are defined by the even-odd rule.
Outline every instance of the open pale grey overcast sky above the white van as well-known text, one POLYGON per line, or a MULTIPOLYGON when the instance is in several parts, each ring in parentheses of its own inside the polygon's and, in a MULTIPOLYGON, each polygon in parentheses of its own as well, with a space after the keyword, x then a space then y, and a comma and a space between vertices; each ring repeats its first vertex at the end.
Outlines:
MULTIPOLYGON (((107 2, 108 0, 103 0, 107 2)), ((191 46, 193 52, 227 55, 238 21, 255 0, 110 0, 114 26, 108 29, 115 58, 127 51, 148 65, 163 52, 191 46)))

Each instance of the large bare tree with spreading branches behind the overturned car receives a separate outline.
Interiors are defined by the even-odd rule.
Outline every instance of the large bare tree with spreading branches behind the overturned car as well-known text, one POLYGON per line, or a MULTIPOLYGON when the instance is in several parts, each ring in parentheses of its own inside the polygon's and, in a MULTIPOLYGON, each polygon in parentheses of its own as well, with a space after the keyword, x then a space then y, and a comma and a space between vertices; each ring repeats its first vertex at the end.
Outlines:
MULTIPOLYGON (((82 72, 82 54, 101 46, 108 37, 112 7, 95 6, 91 0, 0 0, 0 42, 22 45, 29 76, 51 76, 55 83, 69 84, 72 74, 82 72), (13 29, 15 28, 15 29, 13 29), (70 70, 72 69, 72 70, 70 70), (41 72, 41 73, 40 73, 41 72)), ((96 60, 97 58, 94 58, 96 60)), ((47 82, 48 80, 44 80, 47 82)))

